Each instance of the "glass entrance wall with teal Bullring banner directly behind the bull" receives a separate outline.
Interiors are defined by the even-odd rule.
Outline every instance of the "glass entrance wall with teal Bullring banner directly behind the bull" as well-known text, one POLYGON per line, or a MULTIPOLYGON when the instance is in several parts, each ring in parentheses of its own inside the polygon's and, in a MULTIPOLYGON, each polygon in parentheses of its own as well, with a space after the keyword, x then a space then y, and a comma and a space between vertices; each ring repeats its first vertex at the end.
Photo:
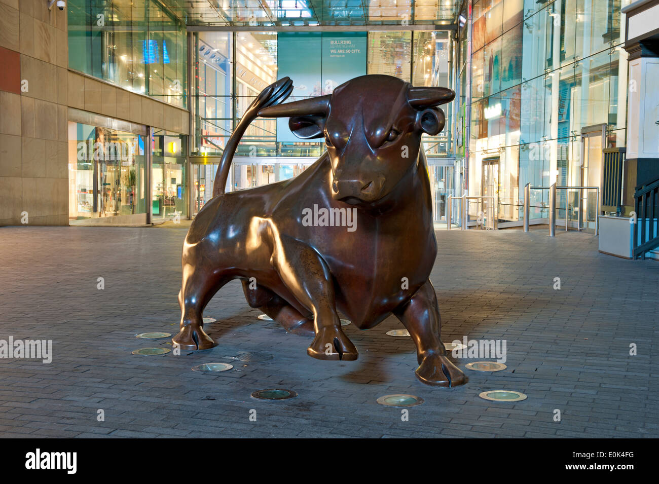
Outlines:
MULTIPOLYGON (((193 163, 201 163, 192 168, 194 211, 211 198, 217 171, 214 157, 221 155, 246 107, 277 78, 290 76, 295 82, 289 101, 328 94, 340 84, 336 79, 341 76, 387 74, 407 82, 413 80, 415 86, 451 83, 453 42, 447 31, 198 32, 192 34, 192 45, 191 152, 193 163), (363 61, 341 59, 334 67, 328 42, 337 36, 350 37, 356 43, 363 38, 366 49, 363 61)), ((443 108, 447 117, 444 131, 439 136, 424 138, 431 165, 434 158, 444 160, 449 156, 451 105, 443 108)), ((256 119, 239 144, 226 190, 251 188, 295 176, 324 149, 322 140, 304 141, 293 136, 287 129, 287 120, 256 119)), ((444 168, 438 168, 440 171, 444 176, 444 168)), ((437 186, 442 184, 453 190, 452 180, 444 184, 441 179, 438 178, 437 186)), ((433 186, 436 186, 434 178, 433 186)), ((446 195, 442 192, 438 200, 445 200, 446 195)), ((443 211, 436 213, 438 217, 444 216, 443 211)))

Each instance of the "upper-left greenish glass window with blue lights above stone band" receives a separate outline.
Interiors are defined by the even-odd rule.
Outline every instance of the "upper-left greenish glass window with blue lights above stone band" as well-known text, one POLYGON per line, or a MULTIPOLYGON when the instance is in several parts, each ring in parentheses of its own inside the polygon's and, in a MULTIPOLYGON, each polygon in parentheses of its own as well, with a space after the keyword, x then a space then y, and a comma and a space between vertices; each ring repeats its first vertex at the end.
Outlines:
POLYGON ((156 0, 69 0, 69 68, 186 107, 186 26, 156 0))

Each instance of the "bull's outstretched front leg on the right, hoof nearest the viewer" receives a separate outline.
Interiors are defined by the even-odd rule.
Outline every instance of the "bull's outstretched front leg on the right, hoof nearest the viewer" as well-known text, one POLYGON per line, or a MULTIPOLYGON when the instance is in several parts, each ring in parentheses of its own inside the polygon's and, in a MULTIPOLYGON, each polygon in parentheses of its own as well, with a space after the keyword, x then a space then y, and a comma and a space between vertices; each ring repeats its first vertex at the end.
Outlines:
POLYGON ((416 378, 426 385, 464 385, 465 374, 446 358, 440 340, 440 308, 430 279, 393 313, 405 325, 416 344, 416 378))

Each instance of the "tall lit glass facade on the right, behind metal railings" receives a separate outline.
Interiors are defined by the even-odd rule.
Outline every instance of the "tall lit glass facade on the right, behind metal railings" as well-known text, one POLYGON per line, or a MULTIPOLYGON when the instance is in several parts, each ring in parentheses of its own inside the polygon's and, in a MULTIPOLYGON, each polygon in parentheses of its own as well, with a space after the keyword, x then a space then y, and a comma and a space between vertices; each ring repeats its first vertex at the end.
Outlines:
MULTIPOLYGON (((468 21, 459 30, 455 149, 469 157, 464 188, 494 196, 498 221, 521 219, 527 183, 601 186, 601 161, 590 156, 597 150, 584 147, 588 133, 602 126, 600 158, 601 148, 624 145, 624 3, 473 1, 471 58, 468 21)), ((585 190, 581 201, 578 193, 558 191, 559 219, 573 217, 580 202, 596 204, 596 190, 585 190)), ((531 205, 531 218, 548 217, 548 190, 531 190, 531 205)), ((477 217, 475 205, 470 215, 477 217)))

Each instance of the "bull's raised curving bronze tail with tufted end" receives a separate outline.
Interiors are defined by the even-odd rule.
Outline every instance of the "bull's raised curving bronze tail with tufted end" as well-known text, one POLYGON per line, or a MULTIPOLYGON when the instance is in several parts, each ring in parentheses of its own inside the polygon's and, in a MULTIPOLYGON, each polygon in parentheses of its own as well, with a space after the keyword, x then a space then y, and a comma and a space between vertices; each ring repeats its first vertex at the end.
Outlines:
POLYGON ((290 78, 284 77, 273 84, 270 84, 267 88, 262 90, 256 99, 250 104, 250 106, 245 111, 241 121, 236 126, 233 133, 229 137, 222 157, 219 161, 219 167, 217 167, 217 173, 215 173, 215 183, 213 184, 213 196, 221 195, 224 193, 224 188, 227 186, 227 178, 229 178, 229 169, 231 168, 231 161, 233 161, 233 155, 238 149, 238 144, 243 138, 244 132, 247 130, 247 127, 258 117, 258 111, 264 107, 273 106, 279 104, 293 92, 293 81, 290 78))

